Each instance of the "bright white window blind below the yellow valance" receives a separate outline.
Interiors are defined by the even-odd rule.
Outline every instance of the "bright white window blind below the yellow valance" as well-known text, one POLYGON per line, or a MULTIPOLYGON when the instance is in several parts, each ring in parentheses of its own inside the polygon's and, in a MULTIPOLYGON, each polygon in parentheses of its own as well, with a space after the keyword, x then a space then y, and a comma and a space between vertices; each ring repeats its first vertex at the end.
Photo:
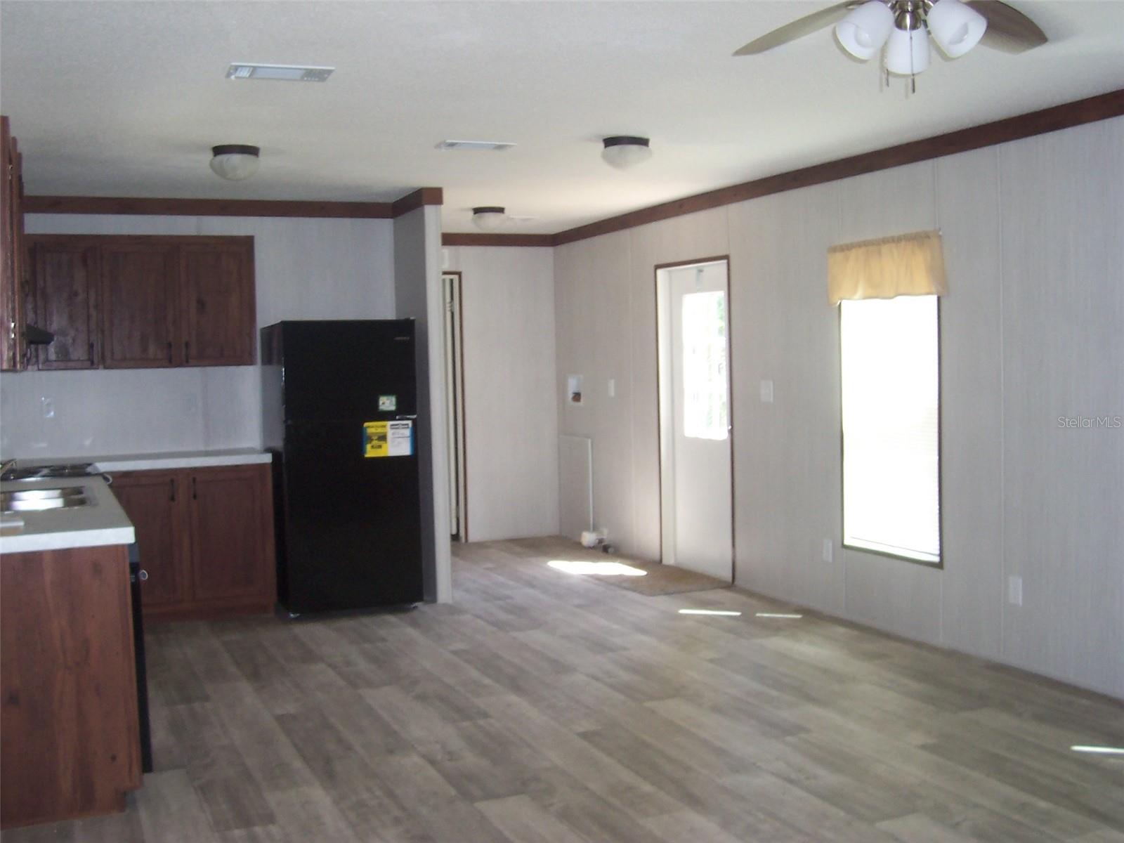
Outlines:
POLYGON ((941 561, 936 296, 841 303, 843 543, 941 561))

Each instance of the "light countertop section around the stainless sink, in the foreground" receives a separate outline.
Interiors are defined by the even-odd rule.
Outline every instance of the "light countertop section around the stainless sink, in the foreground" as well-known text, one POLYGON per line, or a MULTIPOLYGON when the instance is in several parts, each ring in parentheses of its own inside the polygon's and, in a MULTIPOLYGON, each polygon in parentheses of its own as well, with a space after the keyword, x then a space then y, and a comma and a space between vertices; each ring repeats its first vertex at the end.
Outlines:
MULTIPOLYGON (((0 483, 0 490, 60 489, 74 486, 87 488, 92 502, 73 509, 47 509, 40 513, 19 513, 24 526, 11 535, 0 535, 0 553, 35 553, 70 547, 94 547, 107 544, 133 544, 135 533, 109 486, 99 477, 79 477, 54 480, 25 480, 0 483)), ((7 525, 11 516, 3 516, 7 525)), ((8 532, 4 526, 4 533, 8 532)))

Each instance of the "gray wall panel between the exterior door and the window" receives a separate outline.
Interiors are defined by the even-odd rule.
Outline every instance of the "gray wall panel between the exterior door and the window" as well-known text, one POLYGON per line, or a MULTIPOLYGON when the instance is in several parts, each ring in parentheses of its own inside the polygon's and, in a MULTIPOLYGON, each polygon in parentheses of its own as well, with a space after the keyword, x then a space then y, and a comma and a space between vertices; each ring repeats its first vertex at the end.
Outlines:
POLYGON ((737 582, 840 614, 839 312, 826 284, 836 207, 831 184, 742 202, 729 239, 737 582))

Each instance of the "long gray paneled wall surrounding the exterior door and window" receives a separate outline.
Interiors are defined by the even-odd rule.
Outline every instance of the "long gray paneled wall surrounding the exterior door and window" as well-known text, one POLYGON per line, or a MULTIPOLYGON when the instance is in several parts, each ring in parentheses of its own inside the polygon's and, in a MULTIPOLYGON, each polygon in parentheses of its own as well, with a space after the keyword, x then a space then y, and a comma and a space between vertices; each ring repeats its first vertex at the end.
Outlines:
POLYGON ((595 520, 659 556, 653 268, 729 254, 738 584, 1124 696, 1124 429, 1058 424, 1124 416, 1121 184, 1116 118, 556 248, 555 388, 583 374, 588 396, 559 425, 593 439, 595 520), (934 227, 943 571, 839 545, 826 301, 830 245, 934 227))

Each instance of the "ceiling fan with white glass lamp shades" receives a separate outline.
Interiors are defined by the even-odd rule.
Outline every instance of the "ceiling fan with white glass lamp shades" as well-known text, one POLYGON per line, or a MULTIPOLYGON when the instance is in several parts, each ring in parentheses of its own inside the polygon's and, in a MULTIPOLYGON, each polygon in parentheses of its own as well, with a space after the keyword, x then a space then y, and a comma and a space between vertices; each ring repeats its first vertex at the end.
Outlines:
POLYGON ((835 24, 840 45, 855 58, 886 46, 888 73, 915 76, 928 66, 928 38, 950 58, 977 44, 1023 53, 1046 43, 1045 33, 1000 0, 845 0, 751 40, 735 56, 756 55, 835 24))

